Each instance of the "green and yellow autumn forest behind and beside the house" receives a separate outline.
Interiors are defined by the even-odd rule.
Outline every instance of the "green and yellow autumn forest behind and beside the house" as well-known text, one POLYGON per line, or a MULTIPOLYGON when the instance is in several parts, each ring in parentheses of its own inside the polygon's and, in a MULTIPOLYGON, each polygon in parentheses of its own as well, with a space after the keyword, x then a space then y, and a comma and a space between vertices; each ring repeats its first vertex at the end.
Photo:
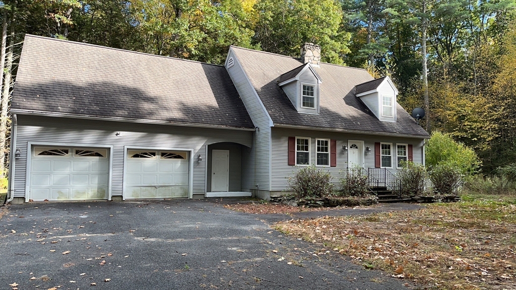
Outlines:
POLYGON ((516 160, 516 0, 0 1, 0 165, 25 34, 223 63, 230 45, 389 75, 421 125, 450 134, 492 173, 516 160))

